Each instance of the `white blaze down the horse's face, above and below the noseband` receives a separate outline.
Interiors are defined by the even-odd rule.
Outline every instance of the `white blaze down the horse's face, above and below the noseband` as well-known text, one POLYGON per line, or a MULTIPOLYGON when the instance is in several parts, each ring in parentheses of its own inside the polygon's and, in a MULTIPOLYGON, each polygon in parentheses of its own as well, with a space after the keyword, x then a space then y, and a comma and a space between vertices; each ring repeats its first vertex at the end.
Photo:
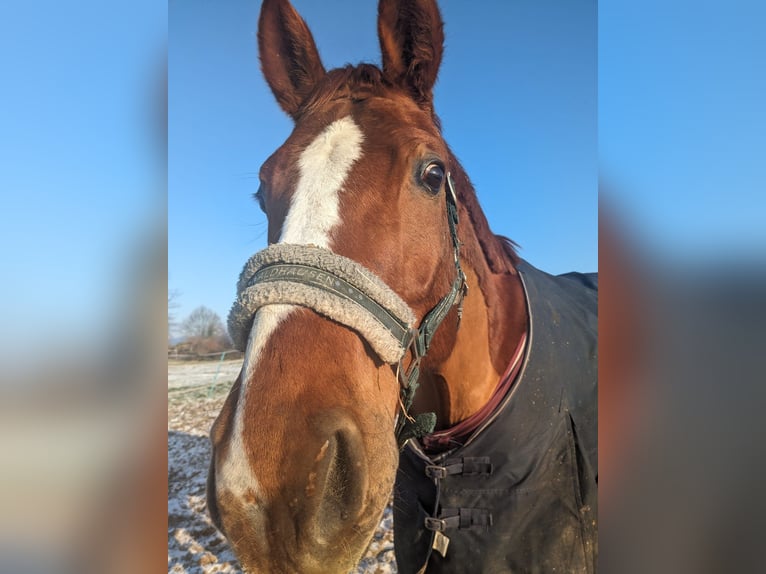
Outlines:
MULTIPOLYGON (((339 194, 352 165, 362 155, 362 140, 359 126, 346 116, 327 126, 303 150, 298 159, 298 185, 282 225, 280 243, 313 244, 331 249, 331 232, 340 222, 339 194)), ((217 484, 235 495, 244 494, 248 488, 258 492, 242 438, 247 382, 271 335, 294 308, 293 305, 269 305, 259 309, 253 320, 229 453, 226 461, 216 467, 217 484)), ((262 494, 258 492, 261 500, 262 494)))

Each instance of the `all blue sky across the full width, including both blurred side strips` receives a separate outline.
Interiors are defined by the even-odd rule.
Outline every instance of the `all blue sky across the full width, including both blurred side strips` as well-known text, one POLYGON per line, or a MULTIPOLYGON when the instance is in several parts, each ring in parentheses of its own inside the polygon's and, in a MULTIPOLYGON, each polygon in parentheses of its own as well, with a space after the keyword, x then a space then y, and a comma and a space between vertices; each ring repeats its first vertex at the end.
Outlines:
MULTIPOLYGON (((378 60, 375 4, 297 2, 327 66, 378 60), (331 9, 347 21, 328 21, 331 9)), ((2 4, 6 350, 37 348, 45 333, 114 331, 112 317, 132 312, 120 297, 139 277, 137 253, 162 255, 152 114, 166 33, 169 287, 182 293, 179 315, 200 304, 226 315, 241 265, 264 245, 255 175, 290 130, 258 70, 258 8, 2 4)), ((766 252, 766 4, 601 2, 598 81, 593 2, 442 8, 437 111, 493 228, 527 259, 553 272, 596 267, 596 151, 621 227, 649 256, 766 252)))

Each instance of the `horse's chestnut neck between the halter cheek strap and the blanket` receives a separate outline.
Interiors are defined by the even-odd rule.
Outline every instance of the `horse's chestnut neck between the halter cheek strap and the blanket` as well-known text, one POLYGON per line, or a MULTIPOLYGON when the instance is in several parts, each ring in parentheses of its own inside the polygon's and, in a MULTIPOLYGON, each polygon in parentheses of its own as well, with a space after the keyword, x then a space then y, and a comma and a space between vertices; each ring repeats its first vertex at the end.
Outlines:
POLYGON ((439 358, 424 365, 415 403, 418 411, 436 412, 438 428, 468 418, 487 403, 528 322, 524 290, 510 254, 489 231, 472 189, 470 196, 461 195, 461 260, 468 295, 454 344, 446 343, 439 358), (504 260, 493 261, 493 256, 504 260))

